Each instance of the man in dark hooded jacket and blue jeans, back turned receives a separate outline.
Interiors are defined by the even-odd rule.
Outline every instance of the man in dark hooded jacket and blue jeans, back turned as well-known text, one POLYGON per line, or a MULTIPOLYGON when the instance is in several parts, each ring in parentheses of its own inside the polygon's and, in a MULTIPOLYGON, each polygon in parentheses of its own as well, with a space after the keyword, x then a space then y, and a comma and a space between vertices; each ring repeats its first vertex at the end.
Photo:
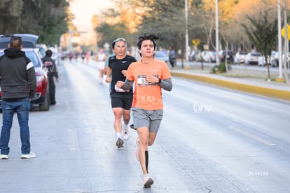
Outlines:
POLYGON ((20 36, 12 36, 4 55, 0 57, 0 86, 2 98, 2 128, 0 159, 8 159, 11 126, 14 112, 18 115, 21 138, 21 158, 36 157, 30 151, 29 110, 30 100, 36 91, 36 74, 33 63, 22 49, 20 36))

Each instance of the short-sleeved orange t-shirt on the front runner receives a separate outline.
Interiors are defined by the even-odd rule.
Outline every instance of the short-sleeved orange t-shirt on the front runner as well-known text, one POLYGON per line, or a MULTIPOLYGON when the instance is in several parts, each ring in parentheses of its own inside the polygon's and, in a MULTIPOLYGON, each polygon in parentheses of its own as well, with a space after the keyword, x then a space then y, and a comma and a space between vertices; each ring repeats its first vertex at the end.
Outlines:
POLYGON ((162 60, 153 59, 153 62, 144 64, 141 60, 132 62, 127 69, 126 78, 134 81, 134 99, 132 107, 146 110, 163 109, 161 86, 157 83, 148 83, 146 75, 158 76, 160 79, 170 79, 170 70, 162 60))

